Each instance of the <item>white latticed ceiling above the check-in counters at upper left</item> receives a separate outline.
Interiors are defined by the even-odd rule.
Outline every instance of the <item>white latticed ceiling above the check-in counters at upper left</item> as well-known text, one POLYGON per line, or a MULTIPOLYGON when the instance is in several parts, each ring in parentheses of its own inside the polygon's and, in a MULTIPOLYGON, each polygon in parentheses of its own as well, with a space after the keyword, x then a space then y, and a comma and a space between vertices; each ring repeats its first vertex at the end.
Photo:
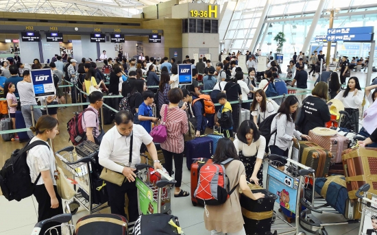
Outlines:
POLYGON ((131 17, 167 0, 0 0, 1 12, 131 17))

